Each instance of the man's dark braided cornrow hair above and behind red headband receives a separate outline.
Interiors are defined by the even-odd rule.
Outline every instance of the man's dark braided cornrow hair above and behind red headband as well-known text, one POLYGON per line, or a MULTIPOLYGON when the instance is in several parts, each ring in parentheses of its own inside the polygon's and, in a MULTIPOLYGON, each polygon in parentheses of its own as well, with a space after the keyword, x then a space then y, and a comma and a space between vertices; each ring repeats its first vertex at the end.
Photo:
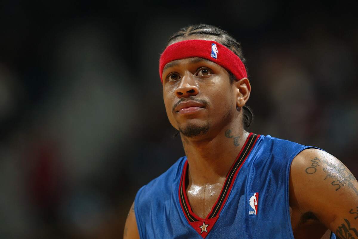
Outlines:
MULTIPOLYGON (((246 59, 243 57, 242 49, 240 43, 238 43, 232 36, 230 36, 226 31, 212 25, 207 24, 197 24, 190 25, 185 28, 180 29, 173 36, 171 36, 168 40, 168 44, 171 44, 178 38, 185 38, 190 35, 202 35, 202 36, 214 36, 215 40, 230 49, 233 53, 235 53, 242 61, 242 63, 246 63, 246 59)), ((247 68, 246 68, 247 71, 247 68)), ((234 81, 237 81, 236 77, 230 72, 229 79, 232 84, 234 81)), ((240 110, 240 108, 238 108, 240 110)), ((250 107, 244 105, 242 107, 242 123, 245 128, 248 128, 251 125, 253 119, 253 113, 250 107)))

